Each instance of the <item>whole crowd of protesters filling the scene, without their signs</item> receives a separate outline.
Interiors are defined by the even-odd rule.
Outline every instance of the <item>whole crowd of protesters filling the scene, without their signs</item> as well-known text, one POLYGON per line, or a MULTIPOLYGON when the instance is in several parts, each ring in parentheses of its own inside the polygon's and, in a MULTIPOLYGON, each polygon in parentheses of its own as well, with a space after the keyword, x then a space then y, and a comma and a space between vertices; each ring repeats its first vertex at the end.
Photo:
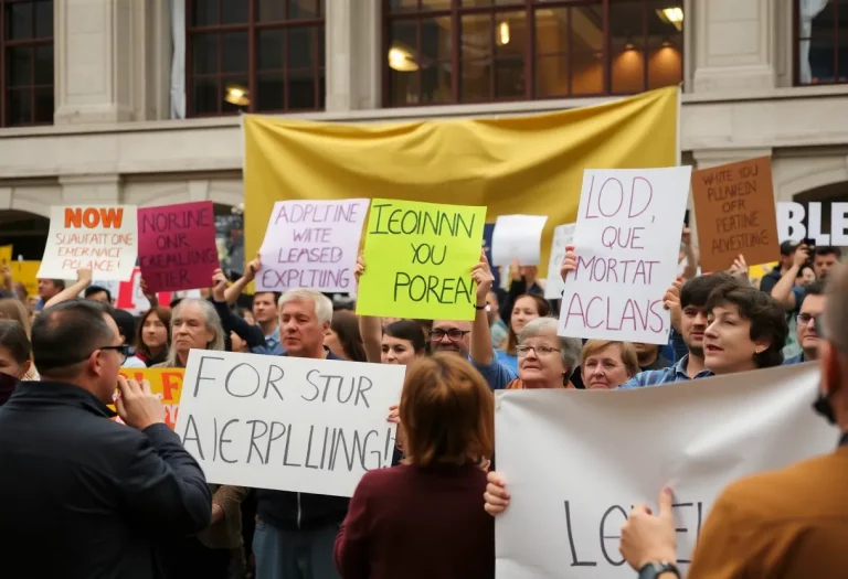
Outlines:
MULTIPOLYGON (((566 285, 579 251, 566 248, 560 271, 566 285)), ((150 309, 137 319, 112 305, 89 270, 74 283, 39 280, 39 294, 30 297, 4 268, 0 528, 9 553, 33 556, 7 558, 0 575, 491 578, 490 514, 509 504, 509 473, 489 472, 492 390, 633 389, 822 358, 825 406, 848 428, 848 274, 838 266, 840 251, 791 243, 781 251, 780 265, 757 288, 744 256, 729 271, 699 274, 685 232, 680 276, 662 297, 672 326, 664 346, 559 336, 560 303, 542 297, 537 268, 515 264, 501 290, 484 253, 470 271, 477 288, 470 322, 357 317, 349 302, 335 307, 311 289, 258 292, 243 310, 258 258, 232 283, 218 271, 199 299, 166 307, 148 294, 150 309), (786 355, 793 344, 797 351, 786 355), (192 349, 407 366, 401 403, 386 408, 399 428, 395 467, 367 473, 350 500, 208 484, 165 426, 149 385, 118 374, 121 366, 184 368, 192 349), (109 419, 113 403, 120 421, 109 419), (33 545, 45 553, 35 554, 33 545)), ((357 279, 368 275, 367 258, 378 259, 361 256, 357 279)), ((841 468, 840 480, 848 474, 828 464, 817 469, 841 468)), ((787 493, 805 489, 781 484, 787 493)), ((809 497, 793 492, 797 496, 787 502, 809 497)), ((825 498, 848 505, 823 491, 818 500, 825 498)), ((728 498, 731 506, 733 500, 742 498, 728 498)), ((666 579, 677 572, 668 492, 660 504, 658 516, 634 510, 622 553, 637 570, 658 565, 656 577, 666 579)), ((836 539, 848 535, 848 517, 834 505, 831 519, 789 511, 797 534, 818 539, 797 545, 778 528, 778 514, 763 507, 771 526, 745 528, 765 538, 757 537, 756 551, 735 547, 732 573, 721 550, 731 539, 714 528, 730 519, 711 519, 690 577, 828 575, 805 575, 826 570, 822 561, 848 572, 844 543, 836 539)))

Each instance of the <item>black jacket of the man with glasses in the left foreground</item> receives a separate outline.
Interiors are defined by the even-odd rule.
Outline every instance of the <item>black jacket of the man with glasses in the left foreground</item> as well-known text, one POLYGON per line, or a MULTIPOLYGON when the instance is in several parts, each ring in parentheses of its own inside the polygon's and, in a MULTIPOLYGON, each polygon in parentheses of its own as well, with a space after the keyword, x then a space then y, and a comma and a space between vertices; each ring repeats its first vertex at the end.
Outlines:
POLYGON ((0 408, 0 577, 158 577, 155 544, 209 526, 212 496, 179 437, 110 416, 54 382, 22 382, 0 408))

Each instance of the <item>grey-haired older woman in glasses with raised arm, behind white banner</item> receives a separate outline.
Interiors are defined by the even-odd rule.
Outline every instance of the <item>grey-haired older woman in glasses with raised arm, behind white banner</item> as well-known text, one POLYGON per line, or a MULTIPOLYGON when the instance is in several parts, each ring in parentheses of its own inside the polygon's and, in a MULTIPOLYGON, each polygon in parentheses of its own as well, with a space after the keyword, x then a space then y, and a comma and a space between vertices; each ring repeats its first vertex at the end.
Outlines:
POLYGON ((480 256, 471 276, 477 282, 477 317, 470 335, 471 363, 489 387, 496 390, 573 388, 571 374, 580 358, 581 343, 573 337, 558 336, 556 320, 553 318, 537 318, 519 332, 516 346, 518 376, 510 367, 495 360, 485 305, 495 278, 485 255, 480 256))

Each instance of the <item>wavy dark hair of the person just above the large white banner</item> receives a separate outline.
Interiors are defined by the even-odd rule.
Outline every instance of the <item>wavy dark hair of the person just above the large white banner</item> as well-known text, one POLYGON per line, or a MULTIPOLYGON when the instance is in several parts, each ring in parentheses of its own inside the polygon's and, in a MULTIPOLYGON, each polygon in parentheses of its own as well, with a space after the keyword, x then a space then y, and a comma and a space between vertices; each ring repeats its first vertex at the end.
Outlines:
POLYGON ((704 309, 709 313, 728 303, 739 308, 739 314, 751 322, 752 341, 768 340, 768 347, 761 354, 754 354, 756 367, 780 366, 783 363, 783 346, 789 335, 783 307, 764 291, 731 282, 712 290, 704 309))

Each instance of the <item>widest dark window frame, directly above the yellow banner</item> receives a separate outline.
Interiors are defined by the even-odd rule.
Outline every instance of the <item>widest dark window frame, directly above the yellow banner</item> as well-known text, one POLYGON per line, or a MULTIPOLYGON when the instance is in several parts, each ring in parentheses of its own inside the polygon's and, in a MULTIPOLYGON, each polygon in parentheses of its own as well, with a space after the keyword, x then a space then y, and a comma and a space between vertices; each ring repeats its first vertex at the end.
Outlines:
MULTIPOLYGON (((416 6, 417 8, 414 11, 409 12, 396 12, 392 13, 390 11, 390 1, 391 0, 382 0, 381 1, 381 12, 380 12, 380 19, 381 19, 381 52, 380 52, 380 71, 381 71, 381 98, 382 98, 382 106, 384 108, 407 108, 407 107, 420 107, 420 106, 456 106, 456 105, 484 105, 484 104, 492 104, 492 103, 517 103, 517 101, 526 101, 526 100, 552 100, 552 99, 563 99, 563 98, 597 98, 597 97, 610 97, 610 96, 627 96, 632 95, 633 93, 628 92, 614 92, 613 90, 613 66, 612 66, 612 34, 611 34, 611 26, 610 26, 610 17, 611 17, 611 1, 612 0, 512 0, 509 3, 495 3, 492 0, 492 3, 489 6, 475 6, 475 7, 463 7, 460 6, 460 0, 449 0, 451 6, 448 8, 439 9, 439 10, 427 10, 422 9, 422 1, 417 0, 416 6), (569 86, 569 94, 565 95, 550 95, 550 96, 537 96, 537 50, 536 50, 536 39, 537 39, 537 30, 536 30, 536 11, 540 9, 562 9, 562 8, 580 8, 580 7, 587 7, 587 6, 597 6, 598 2, 601 3, 601 9, 603 13, 603 90, 601 93, 581 93, 579 95, 574 95, 572 93, 572 74, 571 74, 571 66, 569 67, 569 79, 568 79, 568 86, 569 86), (492 35, 491 41, 494 41, 494 23, 497 18, 498 13, 504 12, 518 12, 518 11, 524 11, 524 22, 527 23, 527 37, 524 42, 523 47, 523 58, 524 58, 524 94, 520 97, 511 97, 511 98, 496 98, 492 96, 494 90, 489 92, 489 98, 487 99, 476 99, 471 101, 462 101, 460 100, 460 85, 462 85, 462 76, 456 75, 455 77, 452 77, 451 79, 451 100, 447 103, 415 103, 415 104, 391 104, 390 97, 391 97, 391 67, 389 66, 388 62, 388 54, 391 49, 391 23, 396 21, 409 21, 415 23, 416 29, 416 43, 418 46, 421 46, 421 40, 422 40, 422 25, 421 22, 424 19, 428 18, 436 18, 436 17, 445 17, 448 15, 451 18, 451 68, 452 71, 459 71, 462 72, 460 66, 460 51, 459 46, 462 46, 460 39, 462 39, 462 17, 466 14, 489 14, 492 21, 492 35)), ((645 35, 644 37, 647 39, 647 23, 649 13, 651 12, 648 0, 636 0, 642 3, 642 32, 645 35)), ((686 2, 683 0, 680 0, 680 8, 681 10, 686 12, 686 2)), ((571 40, 572 40, 572 30, 571 30, 571 12, 569 12, 569 25, 566 25, 566 37, 568 37, 568 45, 571 46, 571 40)), ((686 18, 683 19, 683 25, 682 30, 680 31, 680 86, 682 87, 686 82, 686 18)), ((494 49, 494 45, 490 44, 490 47, 494 49)), ((418 49, 420 50, 420 49, 418 49)), ((645 50, 643 52, 643 87, 644 90, 648 90, 649 88, 649 55, 650 51, 647 49, 647 43, 645 50)), ((494 54, 494 51, 492 51, 494 54)), ((569 65, 572 63, 572 53, 556 53, 556 54, 563 54, 569 62, 569 65)), ((542 54, 542 56, 551 56, 554 54, 542 54)), ((418 94, 421 94, 421 87, 422 87, 422 76, 423 76, 422 67, 418 67, 416 74, 417 74, 417 84, 418 84, 418 94)), ((496 75, 492 73, 491 79, 489 84, 496 84, 496 75)))

